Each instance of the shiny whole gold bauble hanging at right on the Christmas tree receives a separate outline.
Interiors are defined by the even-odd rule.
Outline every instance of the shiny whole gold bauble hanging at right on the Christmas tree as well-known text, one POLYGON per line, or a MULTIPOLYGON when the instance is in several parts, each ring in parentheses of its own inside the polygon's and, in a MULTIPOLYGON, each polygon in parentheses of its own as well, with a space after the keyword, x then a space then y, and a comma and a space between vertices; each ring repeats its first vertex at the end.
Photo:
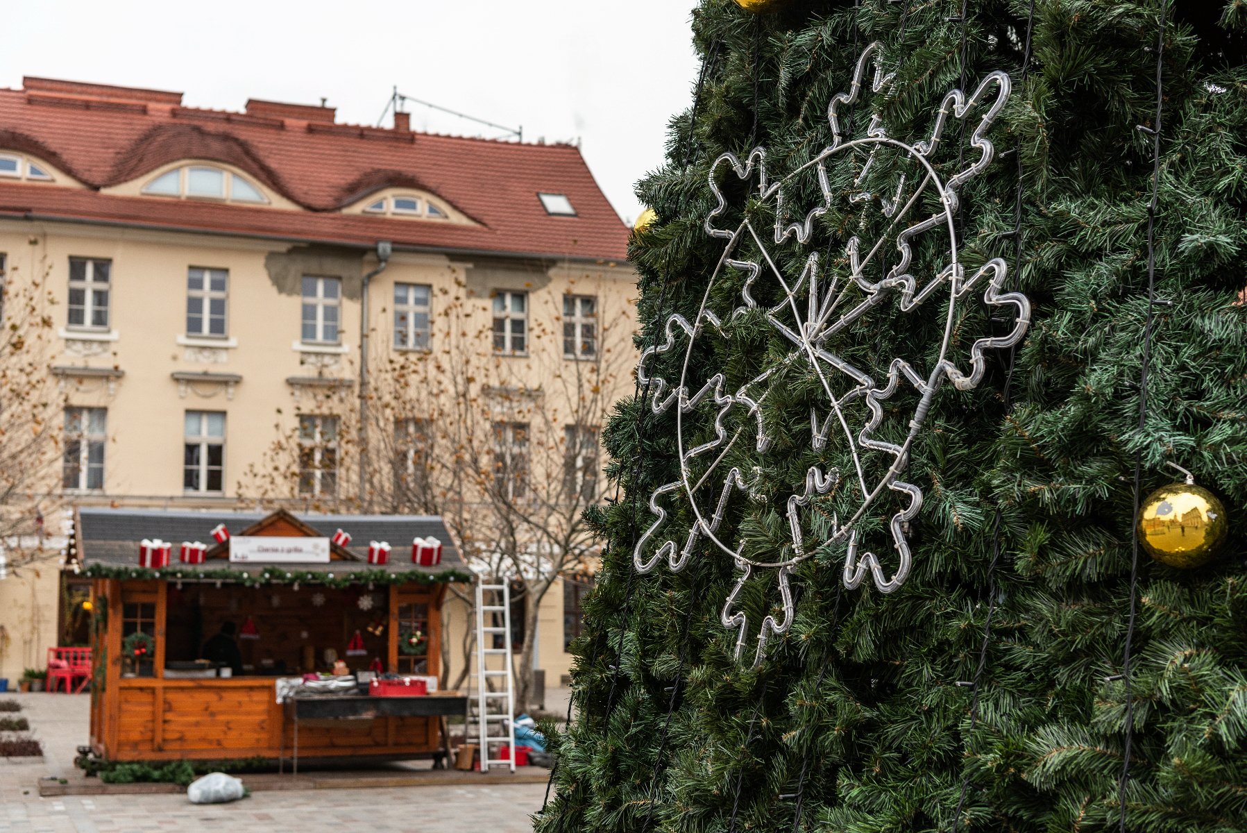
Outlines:
POLYGON ((1226 540, 1226 510, 1207 489, 1172 483, 1143 500, 1137 532, 1153 559, 1192 570, 1207 564, 1226 540))

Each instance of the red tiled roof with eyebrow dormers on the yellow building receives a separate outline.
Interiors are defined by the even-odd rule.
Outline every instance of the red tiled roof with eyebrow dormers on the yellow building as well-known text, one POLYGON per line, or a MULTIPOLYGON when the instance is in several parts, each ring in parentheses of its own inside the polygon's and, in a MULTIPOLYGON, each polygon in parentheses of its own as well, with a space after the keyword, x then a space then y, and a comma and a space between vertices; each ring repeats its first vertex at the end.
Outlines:
POLYGON ((0 216, 125 223, 289 241, 622 261, 627 227, 579 148, 334 123, 330 107, 251 100, 247 112, 181 106, 181 94, 50 79, 0 89, 0 150, 46 160, 87 190, 0 180, 0 216), (302 211, 122 197, 120 185, 183 158, 233 165, 302 211), (343 214, 380 188, 430 191, 478 226, 343 214), (537 192, 577 216, 549 216, 537 192))

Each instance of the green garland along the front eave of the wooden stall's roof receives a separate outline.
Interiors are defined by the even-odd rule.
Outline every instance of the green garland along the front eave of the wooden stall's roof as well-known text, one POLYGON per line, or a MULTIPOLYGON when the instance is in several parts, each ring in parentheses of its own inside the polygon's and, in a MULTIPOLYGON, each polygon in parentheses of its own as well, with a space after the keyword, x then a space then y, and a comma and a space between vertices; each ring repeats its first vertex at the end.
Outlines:
POLYGON ((473 575, 466 570, 443 570, 441 572, 390 572, 389 570, 352 570, 349 572, 314 572, 312 570, 282 570, 266 567, 257 572, 232 570, 229 567, 217 567, 209 570, 197 570, 188 566, 170 566, 163 570, 151 567, 120 566, 107 564, 91 564, 84 570, 89 579, 118 579, 123 581, 219 581, 241 584, 246 587, 262 587, 266 585, 322 585, 342 590, 350 585, 407 585, 416 584, 423 586, 439 584, 459 584, 473 581, 473 575))

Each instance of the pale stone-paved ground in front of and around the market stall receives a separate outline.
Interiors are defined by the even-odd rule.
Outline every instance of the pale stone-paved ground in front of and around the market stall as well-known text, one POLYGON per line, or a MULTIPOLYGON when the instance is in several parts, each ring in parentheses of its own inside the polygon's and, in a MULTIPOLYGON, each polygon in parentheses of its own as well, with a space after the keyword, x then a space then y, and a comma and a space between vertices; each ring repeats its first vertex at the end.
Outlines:
POLYGON ((41 763, 0 758, 0 833, 527 833, 545 784, 261 791, 232 804, 185 794, 40 798, 44 776, 72 777, 87 732, 85 695, 0 695, 22 703, 44 743, 41 763))

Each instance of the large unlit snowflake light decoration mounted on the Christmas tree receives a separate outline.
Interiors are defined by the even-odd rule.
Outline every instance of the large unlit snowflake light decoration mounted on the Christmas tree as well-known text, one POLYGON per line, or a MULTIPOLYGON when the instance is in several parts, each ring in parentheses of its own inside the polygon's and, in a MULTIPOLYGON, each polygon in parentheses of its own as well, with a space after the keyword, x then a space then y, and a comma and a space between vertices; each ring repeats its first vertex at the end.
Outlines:
POLYGON ((917 142, 890 136, 878 108, 855 132, 853 112, 868 96, 883 102, 893 81, 880 44, 867 46, 849 91, 828 105, 832 143, 779 180, 768 177, 761 146, 743 163, 732 153, 715 161, 717 205, 705 228, 725 241, 722 256, 697 318, 667 318, 665 340, 637 368, 653 412, 675 410, 680 479, 651 494, 653 521, 633 564, 648 572, 666 559, 680 571, 707 545, 732 557, 737 582, 721 621, 736 628, 737 658, 751 630, 742 591, 754 570, 774 570, 782 612, 757 628, 754 665, 767 640, 792 625, 789 576, 801 561, 843 552, 850 590, 867 574, 885 594, 905 581, 908 524, 923 491, 902 476, 935 394, 945 379, 958 390, 976 387, 985 350, 1013 347, 1030 320, 1025 296, 1003 291, 1004 261, 963 263, 954 219, 959 190, 993 161, 986 132, 1009 76, 991 72, 970 95, 949 91, 917 142), (729 208, 736 197, 743 206, 729 208), (792 219, 791 206, 802 203, 812 207, 792 219), (754 224, 769 214, 773 228, 754 224), (816 234, 828 239, 816 244, 816 234), (1013 308, 1013 324, 965 349, 960 328, 984 320, 981 311, 970 317, 979 291, 986 308, 1013 308), (905 355, 872 350, 902 315, 913 332, 929 332, 929 343, 907 345, 905 355), (698 375, 716 362, 723 369, 698 375), (666 375, 676 367, 672 385, 666 375), (777 480, 789 486, 768 494, 766 483, 777 480), (769 534, 776 519, 782 544, 769 534), (894 556, 869 549, 884 536, 894 556))

